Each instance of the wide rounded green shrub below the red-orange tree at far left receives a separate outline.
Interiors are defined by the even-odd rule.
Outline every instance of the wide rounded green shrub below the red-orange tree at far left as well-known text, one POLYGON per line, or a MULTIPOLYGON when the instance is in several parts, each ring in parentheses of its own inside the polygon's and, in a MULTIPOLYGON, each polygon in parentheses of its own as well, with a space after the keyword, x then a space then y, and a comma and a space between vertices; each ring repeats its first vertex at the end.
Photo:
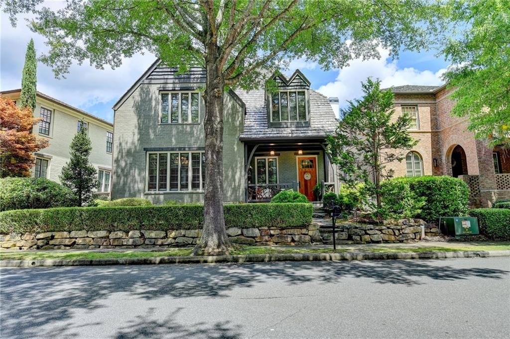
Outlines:
POLYGON ((68 188, 43 178, 0 179, 0 211, 66 207, 75 204, 68 188))

